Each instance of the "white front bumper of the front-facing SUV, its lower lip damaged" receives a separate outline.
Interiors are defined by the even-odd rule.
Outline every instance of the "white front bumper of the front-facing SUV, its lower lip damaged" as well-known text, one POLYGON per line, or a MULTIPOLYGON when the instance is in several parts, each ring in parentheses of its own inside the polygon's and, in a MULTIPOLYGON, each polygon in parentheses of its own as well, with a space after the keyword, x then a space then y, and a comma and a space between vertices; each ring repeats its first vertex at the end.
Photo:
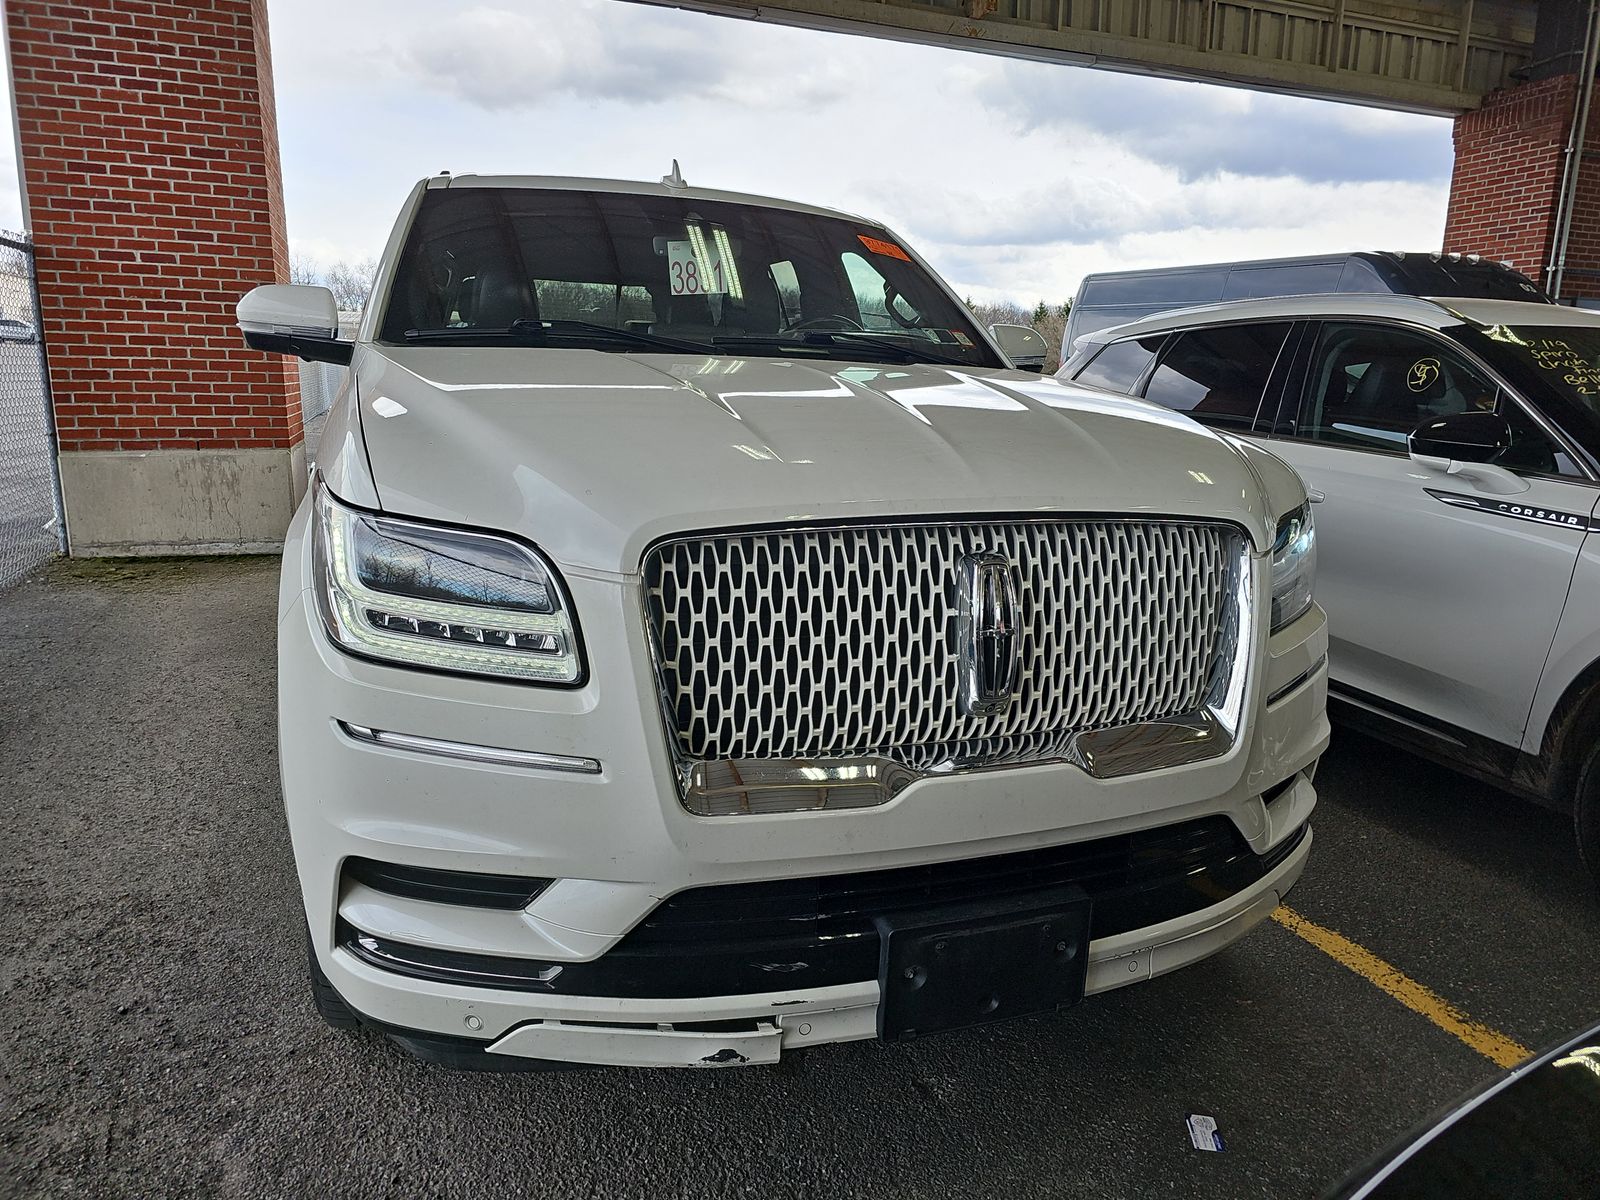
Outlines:
POLYGON ((1270 640, 1245 736, 1224 757, 1118 779, 1040 765, 918 781, 872 810, 696 818, 672 784, 637 581, 568 579, 590 678, 557 691, 347 658, 322 634, 296 522, 280 603, 283 795, 312 944, 360 1014, 494 1056, 632 1066, 773 1061, 786 1046, 875 1034, 875 979, 650 997, 565 995, 410 978, 360 960, 341 930, 466 955, 594 963, 685 890, 1019 854, 1222 816, 1258 856, 1299 837, 1248 886, 1171 920, 1096 936, 1088 994, 1202 958, 1264 918, 1299 877, 1326 747, 1326 629, 1312 610, 1270 640), (1270 702, 1269 702, 1270 698, 1270 702), (341 728, 341 723, 344 728, 341 728), (469 763, 349 736, 394 730, 597 760, 594 774, 469 763), (1302 832, 1304 830, 1304 832, 1302 832), (552 878, 520 910, 352 883, 350 858, 552 878), (731 1022, 731 1024, 730 1024, 731 1022), (715 1027, 707 1027, 715 1024, 715 1027))

